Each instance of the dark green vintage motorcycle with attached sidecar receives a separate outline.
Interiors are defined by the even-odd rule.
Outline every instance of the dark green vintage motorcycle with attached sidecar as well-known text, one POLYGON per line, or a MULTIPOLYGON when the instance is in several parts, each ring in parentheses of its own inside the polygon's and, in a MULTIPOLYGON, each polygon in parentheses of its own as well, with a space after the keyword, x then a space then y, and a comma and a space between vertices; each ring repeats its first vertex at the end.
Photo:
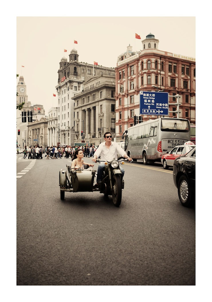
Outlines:
POLYGON ((65 192, 99 191, 106 197, 112 195, 114 205, 119 207, 124 189, 124 180, 119 165, 124 165, 125 161, 113 159, 112 161, 97 160, 97 162, 104 162, 105 164, 103 179, 97 188, 93 188, 97 171, 88 165, 84 165, 84 169, 75 170, 70 165, 66 165, 66 169, 60 169, 59 186, 62 200, 65 198, 65 192))

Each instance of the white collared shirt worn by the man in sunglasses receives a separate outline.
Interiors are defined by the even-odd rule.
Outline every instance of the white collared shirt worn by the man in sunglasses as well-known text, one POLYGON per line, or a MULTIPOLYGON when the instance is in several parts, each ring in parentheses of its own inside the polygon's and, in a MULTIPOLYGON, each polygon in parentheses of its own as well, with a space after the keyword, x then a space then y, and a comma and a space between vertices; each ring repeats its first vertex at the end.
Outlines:
POLYGON ((108 160, 111 161, 112 159, 117 159, 117 152, 124 156, 126 152, 115 142, 111 142, 109 149, 105 146, 105 142, 101 143, 97 150, 95 151, 94 155, 101 156, 101 160, 108 160))

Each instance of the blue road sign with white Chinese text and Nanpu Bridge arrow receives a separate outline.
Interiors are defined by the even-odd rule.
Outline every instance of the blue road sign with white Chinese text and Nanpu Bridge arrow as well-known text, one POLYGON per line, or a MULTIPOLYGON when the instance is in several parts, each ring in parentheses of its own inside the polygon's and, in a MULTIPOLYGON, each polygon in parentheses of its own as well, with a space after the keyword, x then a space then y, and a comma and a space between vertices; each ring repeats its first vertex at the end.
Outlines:
POLYGON ((169 93, 140 91, 140 114, 169 115, 169 93))

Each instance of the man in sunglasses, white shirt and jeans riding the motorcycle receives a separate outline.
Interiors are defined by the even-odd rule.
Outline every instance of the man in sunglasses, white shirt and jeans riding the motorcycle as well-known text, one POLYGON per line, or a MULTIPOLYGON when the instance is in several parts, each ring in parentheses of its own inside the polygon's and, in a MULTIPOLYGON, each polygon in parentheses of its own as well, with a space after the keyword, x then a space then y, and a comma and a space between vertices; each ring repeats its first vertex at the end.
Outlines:
MULTIPOLYGON (((97 150, 95 151, 93 155, 92 162, 97 162, 97 159, 99 156, 101 156, 101 160, 108 160, 111 161, 112 159, 117 159, 117 152, 121 154, 124 158, 128 159, 128 161, 131 161, 132 158, 127 156, 127 153, 115 142, 112 142, 112 135, 110 132, 106 132, 104 134, 104 140, 105 142, 101 143, 97 150)), ((97 188, 100 183, 101 179, 103 178, 103 172, 104 172, 105 164, 102 162, 97 169, 97 183, 94 185, 94 188, 97 188)), ((120 170, 122 172, 122 178, 124 176, 124 169, 120 167, 120 170)))

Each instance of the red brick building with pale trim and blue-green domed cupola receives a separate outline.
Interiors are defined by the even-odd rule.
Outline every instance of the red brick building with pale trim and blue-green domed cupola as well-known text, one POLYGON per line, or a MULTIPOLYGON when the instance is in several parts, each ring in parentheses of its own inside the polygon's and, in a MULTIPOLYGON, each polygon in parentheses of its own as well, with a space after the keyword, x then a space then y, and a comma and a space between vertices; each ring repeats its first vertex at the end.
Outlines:
MULTIPOLYGON (((180 95, 179 118, 195 125, 195 58, 158 50, 159 40, 148 34, 142 40, 143 50, 132 52, 129 45, 115 67, 116 138, 134 125, 139 116, 140 91, 163 91, 169 96, 169 117, 177 117, 177 98, 180 95), (175 105, 176 104, 176 105, 175 105)), ((159 115, 142 115, 143 121, 159 115)))

